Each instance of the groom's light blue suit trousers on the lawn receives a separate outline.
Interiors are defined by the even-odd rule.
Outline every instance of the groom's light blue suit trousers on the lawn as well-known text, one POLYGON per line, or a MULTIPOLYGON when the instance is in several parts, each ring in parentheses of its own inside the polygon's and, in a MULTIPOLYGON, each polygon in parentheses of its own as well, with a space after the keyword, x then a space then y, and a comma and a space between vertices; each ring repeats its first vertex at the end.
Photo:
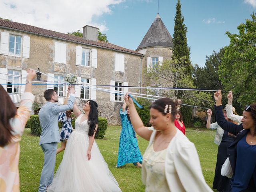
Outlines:
POLYGON ((46 187, 50 185, 53 180, 58 142, 46 143, 40 146, 44 152, 44 166, 38 192, 45 192, 46 187))

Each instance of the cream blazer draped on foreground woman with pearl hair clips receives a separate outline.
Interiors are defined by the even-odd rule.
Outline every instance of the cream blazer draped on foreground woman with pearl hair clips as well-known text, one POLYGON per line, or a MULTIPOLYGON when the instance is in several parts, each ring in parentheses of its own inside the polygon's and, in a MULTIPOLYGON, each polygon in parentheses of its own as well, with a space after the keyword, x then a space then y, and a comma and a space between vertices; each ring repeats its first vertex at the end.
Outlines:
MULTIPOLYGON (((165 158, 165 176, 170 191, 212 192, 204 180, 196 147, 178 128, 176 130, 176 135, 168 145, 165 158)), ((152 132, 148 148, 152 144, 156 132, 157 130, 152 132)), ((144 166, 141 171, 142 182, 146 185, 147 173, 144 166)))

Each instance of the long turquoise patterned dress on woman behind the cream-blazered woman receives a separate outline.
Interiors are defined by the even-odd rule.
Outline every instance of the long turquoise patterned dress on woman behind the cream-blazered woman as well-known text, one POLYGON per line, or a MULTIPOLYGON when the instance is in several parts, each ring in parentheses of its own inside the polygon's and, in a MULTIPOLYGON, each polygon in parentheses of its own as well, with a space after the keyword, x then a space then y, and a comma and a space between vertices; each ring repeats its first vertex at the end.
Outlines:
POLYGON ((136 134, 132 127, 131 122, 128 120, 125 112, 120 109, 120 117, 122 122, 122 130, 119 140, 119 150, 117 167, 121 167, 127 163, 133 163, 136 165, 137 162, 142 163, 142 156, 138 147, 138 141, 136 139, 136 134))

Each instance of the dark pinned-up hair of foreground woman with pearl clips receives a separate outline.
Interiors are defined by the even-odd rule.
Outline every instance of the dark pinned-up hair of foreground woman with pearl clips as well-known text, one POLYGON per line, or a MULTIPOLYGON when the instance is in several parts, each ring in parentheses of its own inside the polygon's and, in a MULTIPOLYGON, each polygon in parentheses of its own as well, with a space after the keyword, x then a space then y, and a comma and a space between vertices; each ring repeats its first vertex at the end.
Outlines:
POLYGON ((176 114, 176 111, 177 111, 177 106, 178 106, 178 104, 180 104, 180 100, 174 102, 172 99, 167 98, 167 97, 160 98, 160 99, 156 100, 154 103, 152 103, 149 108, 156 109, 159 112, 161 112, 164 116, 166 116, 166 114, 169 112, 169 108, 167 110, 167 113, 164 112, 166 104, 172 106, 171 120, 173 122, 174 115, 176 114))

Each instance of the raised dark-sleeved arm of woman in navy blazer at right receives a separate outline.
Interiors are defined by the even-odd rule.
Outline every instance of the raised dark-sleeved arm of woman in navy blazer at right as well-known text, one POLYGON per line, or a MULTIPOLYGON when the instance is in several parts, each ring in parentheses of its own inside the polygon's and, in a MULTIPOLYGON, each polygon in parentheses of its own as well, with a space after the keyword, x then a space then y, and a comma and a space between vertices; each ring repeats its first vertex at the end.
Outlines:
POLYGON ((241 130, 243 130, 242 124, 236 125, 232 122, 228 122, 222 112, 222 94, 221 90, 214 93, 214 99, 216 101, 215 111, 218 125, 227 132, 237 135, 241 130))

